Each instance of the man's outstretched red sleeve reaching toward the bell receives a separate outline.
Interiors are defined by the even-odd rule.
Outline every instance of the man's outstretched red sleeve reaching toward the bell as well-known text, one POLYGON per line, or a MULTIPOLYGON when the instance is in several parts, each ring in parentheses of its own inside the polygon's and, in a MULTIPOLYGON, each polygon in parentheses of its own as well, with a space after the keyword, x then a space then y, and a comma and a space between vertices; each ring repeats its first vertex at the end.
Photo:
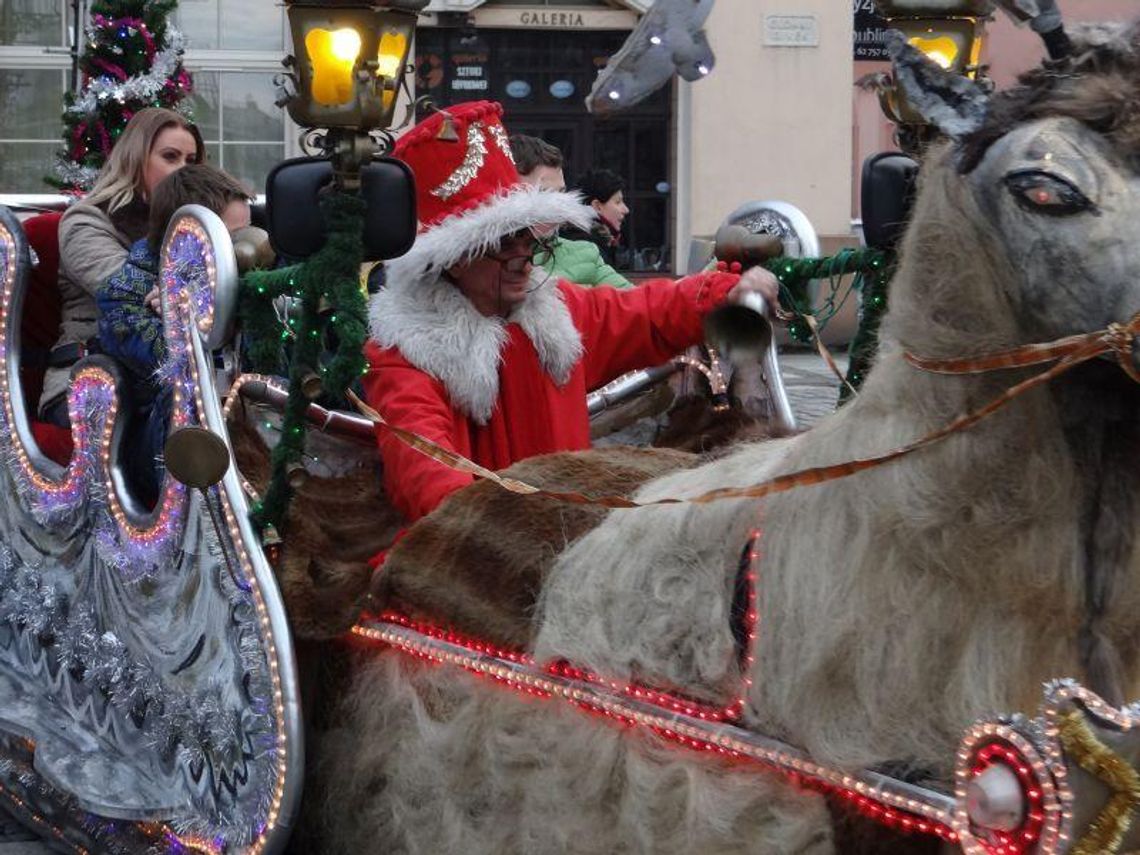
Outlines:
POLYGON ((652 279, 635 288, 560 285, 585 347, 586 388, 660 365, 703 339, 705 316, 740 277, 705 272, 652 279))

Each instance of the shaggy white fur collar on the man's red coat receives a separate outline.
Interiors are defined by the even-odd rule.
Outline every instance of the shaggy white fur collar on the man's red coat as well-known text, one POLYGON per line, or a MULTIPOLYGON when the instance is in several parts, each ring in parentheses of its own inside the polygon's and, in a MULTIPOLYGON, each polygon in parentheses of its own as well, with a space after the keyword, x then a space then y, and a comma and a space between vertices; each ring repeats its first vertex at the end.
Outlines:
MULTIPOLYGON (((383 348, 397 348, 405 359, 439 380, 451 401, 478 424, 487 424, 498 400, 508 323, 522 327, 544 370, 559 385, 570 378, 581 359, 581 336, 553 279, 528 294, 504 320, 480 315, 463 292, 438 272, 417 277, 393 277, 391 272, 372 298, 373 339, 383 348)), ((531 272, 536 286, 546 278, 545 270, 531 272)))

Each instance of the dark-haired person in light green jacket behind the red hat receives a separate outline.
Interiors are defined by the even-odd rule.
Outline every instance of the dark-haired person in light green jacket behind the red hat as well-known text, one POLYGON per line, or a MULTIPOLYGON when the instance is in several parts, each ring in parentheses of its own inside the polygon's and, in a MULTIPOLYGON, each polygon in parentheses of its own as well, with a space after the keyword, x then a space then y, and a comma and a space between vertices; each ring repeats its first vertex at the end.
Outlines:
MULTIPOLYGON (((562 173, 562 152, 546 140, 515 133, 511 137, 519 177, 523 182, 544 190, 564 193, 565 177, 562 173)), ((616 288, 632 288, 633 283, 614 270, 602 258, 597 244, 592 241, 568 241, 556 237, 549 250, 544 250, 535 263, 545 267, 551 276, 577 285, 612 285, 616 288), (553 254, 553 258, 551 258, 553 254)))

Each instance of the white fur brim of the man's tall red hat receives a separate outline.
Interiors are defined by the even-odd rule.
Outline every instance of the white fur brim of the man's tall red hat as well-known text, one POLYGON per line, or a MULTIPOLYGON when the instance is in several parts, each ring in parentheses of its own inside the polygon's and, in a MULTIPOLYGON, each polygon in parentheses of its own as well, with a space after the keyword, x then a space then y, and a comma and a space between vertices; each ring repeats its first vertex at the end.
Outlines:
POLYGON ((594 209, 584 205, 577 194, 518 185, 418 235, 408 252, 388 263, 388 278, 418 278, 429 270, 446 270, 497 249, 507 235, 534 226, 567 223, 588 231, 594 217, 594 209))

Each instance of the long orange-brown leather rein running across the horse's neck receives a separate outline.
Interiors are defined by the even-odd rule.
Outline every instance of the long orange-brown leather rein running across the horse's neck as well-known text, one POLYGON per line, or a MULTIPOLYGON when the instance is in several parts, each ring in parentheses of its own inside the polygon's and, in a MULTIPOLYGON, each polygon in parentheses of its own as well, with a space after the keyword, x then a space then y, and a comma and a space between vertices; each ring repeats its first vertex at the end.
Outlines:
POLYGON ((562 502, 571 505, 591 505, 594 507, 609 508, 652 507, 656 505, 705 505, 711 502, 719 502, 722 499, 763 498, 777 492, 787 492, 788 490, 792 490, 797 487, 809 487, 825 483, 828 481, 836 481, 841 478, 848 478, 849 475, 854 475, 858 472, 877 469, 883 464, 906 457, 921 448, 940 442, 954 433, 972 427, 1031 389, 1049 383, 1053 378, 1072 370, 1077 365, 1086 363, 1090 359, 1094 359, 1105 353, 1115 353, 1116 360, 1121 368, 1124 369, 1125 374, 1127 374, 1137 383, 1140 383, 1140 372, 1137 370, 1131 359, 1133 351, 1132 342, 1138 334, 1140 334, 1140 312, 1133 316, 1127 324, 1110 324, 1106 329, 1093 333, 1072 335, 1066 339, 1059 339, 1043 344, 1026 344, 1020 348, 1013 348, 1011 350, 999 351, 996 353, 967 359, 928 359, 909 352, 904 353, 903 356, 907 363, 919 370, 931 374, 985 374, 994 370, 1024 368, 1051 361, 1056 361, 1057 365, 1041 372, 1040 374, 1035 374, 1028 380, 1010 386, 985 406, 958 416, 944 427, 927 433, 925 437, 921 437, 913 442, 901 446, 899 448, 895 448, 885 454, 874 455, 872 457, 860 457, 854 461, 837 463, 830 466, 805 469, 785 475, 777 475, 776 478, 762 481, 750 487, 723 487, 716 490, 709 490, 708 492, 703 492, 700 496, 689 499, 663 498, 654 502, 633 502, 624 496, 587 496, 576 491, 562 492, 544 490, 540 487, 535 487, 526 481, 519 481, 513 478, 503 478, 491 470, 480 466, 474 461, 470 461, 455 451, 443 448, 425 437, 421 437, 420 434, 404 430, 402 427, 397 427, 385 421, 380 413, 360 400, 353 392, 349 391, 348 397, 367 418, 375 424, 386 427, 397 437, 397 439, 410 448, 414 448, 421 454, 431 457, 433 461, 441 463, 449 469, 487 479, 488 481, 492 481, 511 492, 539 496, 542 498, 554 499, 555 502, 562 502))

